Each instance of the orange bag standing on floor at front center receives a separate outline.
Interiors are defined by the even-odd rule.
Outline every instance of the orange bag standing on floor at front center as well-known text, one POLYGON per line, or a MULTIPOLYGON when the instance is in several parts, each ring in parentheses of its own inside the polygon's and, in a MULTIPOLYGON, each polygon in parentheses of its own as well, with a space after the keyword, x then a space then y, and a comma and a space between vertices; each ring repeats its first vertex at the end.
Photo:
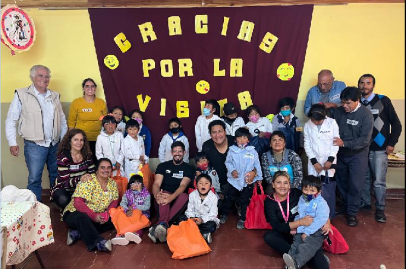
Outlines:
POLYGON ((173 253, 172 258, 178 260, 212 251, 201 236, 197 224, 191 219, 168 228, 166 242, 173 253))

